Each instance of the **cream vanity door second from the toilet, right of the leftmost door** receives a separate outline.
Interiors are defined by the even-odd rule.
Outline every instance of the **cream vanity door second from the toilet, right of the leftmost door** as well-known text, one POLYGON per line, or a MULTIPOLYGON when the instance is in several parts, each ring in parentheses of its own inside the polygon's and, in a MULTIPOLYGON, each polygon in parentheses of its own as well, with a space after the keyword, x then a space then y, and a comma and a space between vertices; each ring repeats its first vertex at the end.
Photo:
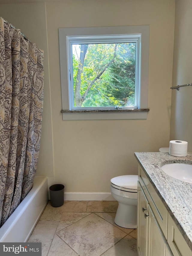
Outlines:
POLYGON ((165 256, 166 241, 157 223, 157 220, 148 204, 148 234, 149 234, 149 253, 148 256, 165 256))

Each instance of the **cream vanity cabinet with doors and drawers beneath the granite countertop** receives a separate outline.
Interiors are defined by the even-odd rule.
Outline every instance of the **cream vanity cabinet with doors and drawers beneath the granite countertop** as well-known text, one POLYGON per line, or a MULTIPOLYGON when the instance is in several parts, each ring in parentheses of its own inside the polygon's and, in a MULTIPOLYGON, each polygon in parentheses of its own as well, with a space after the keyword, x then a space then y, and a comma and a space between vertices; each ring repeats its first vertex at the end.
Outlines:
POLYGON ((138 177, 139 256, 192 256, 192 251, 140 165, 138 177))

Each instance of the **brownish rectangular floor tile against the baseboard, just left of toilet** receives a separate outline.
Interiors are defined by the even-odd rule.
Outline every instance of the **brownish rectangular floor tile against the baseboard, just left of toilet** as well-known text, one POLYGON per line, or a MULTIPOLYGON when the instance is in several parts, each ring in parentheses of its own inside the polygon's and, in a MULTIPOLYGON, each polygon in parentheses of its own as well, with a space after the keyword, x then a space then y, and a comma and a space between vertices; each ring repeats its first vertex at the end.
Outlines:
POLYGON ((117 201, 88 201, 87 212, 116 212, 117 201))

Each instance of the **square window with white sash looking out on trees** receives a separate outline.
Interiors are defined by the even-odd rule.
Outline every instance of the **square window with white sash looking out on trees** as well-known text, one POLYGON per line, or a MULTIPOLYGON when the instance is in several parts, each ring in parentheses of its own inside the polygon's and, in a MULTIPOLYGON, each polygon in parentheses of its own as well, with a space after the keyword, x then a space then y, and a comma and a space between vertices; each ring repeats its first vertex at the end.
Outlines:
POLYGON ((67 37, 70 110, 138 108, 140 35, 67 37))

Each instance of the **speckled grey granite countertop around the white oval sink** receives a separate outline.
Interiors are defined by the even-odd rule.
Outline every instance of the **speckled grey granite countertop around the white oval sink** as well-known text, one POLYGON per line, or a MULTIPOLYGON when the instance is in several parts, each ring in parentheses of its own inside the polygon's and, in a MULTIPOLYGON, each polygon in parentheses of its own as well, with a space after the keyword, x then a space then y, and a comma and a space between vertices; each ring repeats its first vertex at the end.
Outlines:
POLYGON ((192 164, 192 152, 185 157, 135 152, 135 157, 192 250, 192 183, 175 179, 161 170, 164 164, 192 164))

